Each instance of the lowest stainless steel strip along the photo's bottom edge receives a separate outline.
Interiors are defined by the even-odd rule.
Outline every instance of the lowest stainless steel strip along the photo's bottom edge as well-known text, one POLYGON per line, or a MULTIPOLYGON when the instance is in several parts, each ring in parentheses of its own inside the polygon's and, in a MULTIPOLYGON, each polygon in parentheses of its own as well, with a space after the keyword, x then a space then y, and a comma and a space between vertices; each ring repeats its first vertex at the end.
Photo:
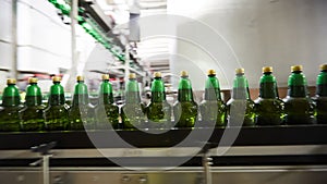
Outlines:
MULTIPOLYGON (((325 184, 327 165, 306 167, 220 167, 211 168, 218 184, 325 184)), ((202 184, 202 168, 170 171, 128 171, 121 168, 51 169, 51 184, 202 184)), ((41 171, 31 168, 0 169, 1 184, 41 184, 41 171)))

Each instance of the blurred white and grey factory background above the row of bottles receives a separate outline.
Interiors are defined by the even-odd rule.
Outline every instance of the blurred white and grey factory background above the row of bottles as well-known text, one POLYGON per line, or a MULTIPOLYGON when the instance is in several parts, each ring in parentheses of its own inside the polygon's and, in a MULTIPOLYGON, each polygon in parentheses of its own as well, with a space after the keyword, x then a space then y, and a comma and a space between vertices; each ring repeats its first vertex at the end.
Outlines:
POLYGON ((209 69, 228 90, 235 68, 256 89, 262 68, 274 66, 282 88, 290 66, 303 64, 314 86, 327 58, 325 0, 81 0, 76 20, 71 9, 66 0, 0 0, 0 90, 7 77, 24 90, 37 76, 47 93, 50 77, 61 75, 70 93, 82 74, 92 94, 109 73, 120 97, 130 72, 148 89, 159 71, 174 91, 186 70, 199 101, 209 69))

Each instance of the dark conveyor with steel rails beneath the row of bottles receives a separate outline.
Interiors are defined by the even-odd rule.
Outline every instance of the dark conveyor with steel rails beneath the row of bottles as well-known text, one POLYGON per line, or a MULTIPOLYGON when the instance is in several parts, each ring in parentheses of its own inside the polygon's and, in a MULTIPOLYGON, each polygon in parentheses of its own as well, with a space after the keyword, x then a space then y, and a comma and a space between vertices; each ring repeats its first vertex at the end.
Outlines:
POLYGON ((294 125, 0 133, 0 183, 322 184, 326 132, 294 125))

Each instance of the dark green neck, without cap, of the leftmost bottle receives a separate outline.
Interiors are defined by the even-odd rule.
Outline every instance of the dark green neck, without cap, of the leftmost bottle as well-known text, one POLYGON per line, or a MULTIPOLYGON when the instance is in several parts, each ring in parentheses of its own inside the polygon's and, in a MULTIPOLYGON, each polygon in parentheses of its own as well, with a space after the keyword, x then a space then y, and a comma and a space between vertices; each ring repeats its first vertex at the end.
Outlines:
POLYGON ((9 84, 2 96, 2 106, 3 107, 16 107, 21 103, 21 97, 17 87, 14 84, 9 84))

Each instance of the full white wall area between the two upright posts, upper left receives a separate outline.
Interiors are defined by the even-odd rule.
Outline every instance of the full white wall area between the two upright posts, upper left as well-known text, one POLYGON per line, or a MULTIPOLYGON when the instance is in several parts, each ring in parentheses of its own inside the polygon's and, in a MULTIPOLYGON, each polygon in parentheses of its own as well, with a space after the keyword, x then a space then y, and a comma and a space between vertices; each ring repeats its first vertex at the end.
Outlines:
POLYGON ((70 26, 48 1, 22 0, 17 4, 17 60, 20 71, 59 73, 71 66, 70 26))

